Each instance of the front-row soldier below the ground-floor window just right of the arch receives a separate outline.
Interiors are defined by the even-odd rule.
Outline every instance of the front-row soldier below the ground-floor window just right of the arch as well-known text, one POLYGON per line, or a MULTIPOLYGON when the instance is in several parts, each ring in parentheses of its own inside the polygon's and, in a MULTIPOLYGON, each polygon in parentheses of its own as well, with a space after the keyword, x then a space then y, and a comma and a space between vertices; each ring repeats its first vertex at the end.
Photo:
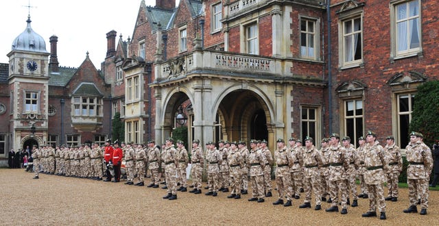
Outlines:
POLYGON ((313 145, 313 138, 307 136, 305 138, 305 149, 303 152, 303 166, 305 166, 303 175, 305 177, 305 201, 299 208, 311 208, 311 190, 314 192, 316 199, 316 208, 314 210, 321 210, 322 206, 322 187, 320 185, 320 172, 322 166, 322 158, 319 151, 313 145))

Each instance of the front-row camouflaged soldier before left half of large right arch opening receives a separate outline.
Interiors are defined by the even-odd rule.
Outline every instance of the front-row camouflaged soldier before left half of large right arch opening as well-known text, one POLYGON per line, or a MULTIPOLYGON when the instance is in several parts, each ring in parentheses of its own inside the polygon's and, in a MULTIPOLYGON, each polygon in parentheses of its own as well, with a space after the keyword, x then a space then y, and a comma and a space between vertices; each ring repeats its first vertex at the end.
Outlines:
POLYGON ((241 199, 241 167, 244 166, 244 158, 237 149, 237 142, 230 142, 228 150, 228 166, 230 168, 230 195, 228 199, 241 199))

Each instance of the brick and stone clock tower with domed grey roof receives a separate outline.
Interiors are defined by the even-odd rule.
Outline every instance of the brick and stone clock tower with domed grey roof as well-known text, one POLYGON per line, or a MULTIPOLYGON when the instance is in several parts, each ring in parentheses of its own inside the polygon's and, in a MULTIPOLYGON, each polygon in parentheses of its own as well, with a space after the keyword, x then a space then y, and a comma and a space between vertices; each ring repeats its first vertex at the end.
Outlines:
POLYGON ((30 16, 26 22, 26 29, 14 39, 8 53, 14 149, 47 142, 50 53, 44 38, 32 29, 30 16))

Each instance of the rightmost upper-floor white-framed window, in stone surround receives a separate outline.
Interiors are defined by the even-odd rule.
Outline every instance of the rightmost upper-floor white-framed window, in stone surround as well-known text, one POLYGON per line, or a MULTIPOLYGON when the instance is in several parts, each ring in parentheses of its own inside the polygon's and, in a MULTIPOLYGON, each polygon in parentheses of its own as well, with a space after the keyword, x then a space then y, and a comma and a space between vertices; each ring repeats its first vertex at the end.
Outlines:
MULTIPOLYGON (((410 12, 410 9, 407 10, 407 12, 410 12)), ((396 60, 400 58, 407 58, 412 57, 414 55, 423 55, 423 29, 422 29, 422 5, 420 0, 394 0, 390 1, 390 59, 396 60), (418 15, 417 16, 411 16, 409 18, 405 18, 403 20, 398 20, 398 13, 396 12, 399 5, 405 4, 407 5, 407 9, 410 8, 410 2, 417 1, 418 6, 418 15), (414 47, 410 49, 408 45, 410 45, 410 37, 407 32, 407 50, 405 51, 399 51, 399 38, 398 38, 398 23, 403 23, 404 21, 413 20, 415 18, 418 18, 418 39, 419 39, 419 46, 414 47)))

